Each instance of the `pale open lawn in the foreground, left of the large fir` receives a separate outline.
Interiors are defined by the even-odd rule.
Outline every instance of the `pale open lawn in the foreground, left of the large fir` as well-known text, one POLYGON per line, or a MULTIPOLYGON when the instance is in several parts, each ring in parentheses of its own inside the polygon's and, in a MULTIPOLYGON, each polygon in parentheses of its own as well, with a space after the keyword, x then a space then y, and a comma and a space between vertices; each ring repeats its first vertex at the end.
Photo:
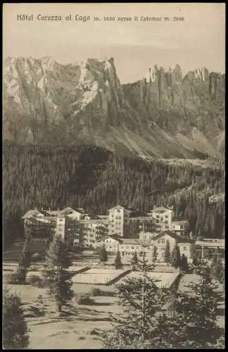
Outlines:
MULTIPOLYGON (((20 293, 24 302, 25 318, 30 328, 30 349, 100 349, 99 330, 110 329, 108 313, 118 313, 117 298, 94 297, 92 306, 72 305, 64 308, 61 315, 46 294, 45 289, 24 285, 9 285, 20 293)), ((95 285, 73 285, 75 293, 89 293, 95 285)), ((100 287, 103 291, 114 291, 113 287, 100 287)))

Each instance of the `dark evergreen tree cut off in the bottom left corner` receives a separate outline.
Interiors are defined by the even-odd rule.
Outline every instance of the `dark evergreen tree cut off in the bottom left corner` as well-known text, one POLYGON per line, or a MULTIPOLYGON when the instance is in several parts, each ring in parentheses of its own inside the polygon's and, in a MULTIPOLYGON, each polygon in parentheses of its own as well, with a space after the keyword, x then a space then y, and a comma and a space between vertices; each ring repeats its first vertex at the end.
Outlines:
POLYGON ((6 350, 25 349, 29 330, 23 316, 23 303, 18 294, 3 291, 3 346, 6 350))

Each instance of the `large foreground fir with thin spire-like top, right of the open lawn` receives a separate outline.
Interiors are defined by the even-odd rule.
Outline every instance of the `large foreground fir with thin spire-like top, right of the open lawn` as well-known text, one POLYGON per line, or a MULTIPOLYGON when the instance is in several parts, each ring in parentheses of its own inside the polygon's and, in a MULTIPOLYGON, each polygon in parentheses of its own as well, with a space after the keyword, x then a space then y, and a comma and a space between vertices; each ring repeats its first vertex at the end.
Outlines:
POLYGON ((159 315, 163 311, 167 291, 158 289, 148 272, 153 269, 147 264, 145 249, 142 259, 138 259, 137 277, 126 278, 117 284, 122 312, 111 315, 113 329, 103 332, 106 348, 156 348, 159 346, 159 315))

